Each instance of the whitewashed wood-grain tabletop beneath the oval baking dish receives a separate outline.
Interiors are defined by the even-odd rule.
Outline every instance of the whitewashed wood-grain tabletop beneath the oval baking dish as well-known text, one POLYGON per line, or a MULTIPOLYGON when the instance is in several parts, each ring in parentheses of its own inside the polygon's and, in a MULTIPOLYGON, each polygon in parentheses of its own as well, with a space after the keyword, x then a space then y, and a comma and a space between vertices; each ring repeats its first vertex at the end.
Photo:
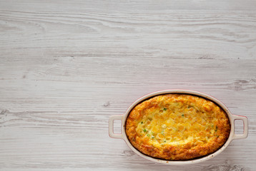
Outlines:
POLYGON ((0 170, 256 168, 254 0, 1 0, 0 43, 0 170), (248 138, 186 166, 109 138, 110 115, 173 88, 247 116, 248 138))

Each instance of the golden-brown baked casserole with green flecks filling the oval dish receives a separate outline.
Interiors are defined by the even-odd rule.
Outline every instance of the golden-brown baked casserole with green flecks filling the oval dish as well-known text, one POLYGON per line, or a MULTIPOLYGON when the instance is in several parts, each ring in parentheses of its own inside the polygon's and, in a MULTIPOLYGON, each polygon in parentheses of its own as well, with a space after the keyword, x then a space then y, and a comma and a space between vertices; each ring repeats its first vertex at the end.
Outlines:
POLYGON ((132 145, 150 157, 191 160, 218 150, 230 135, 227 114, 196 95, 157 95, 136 105, 125 131, 132 145))

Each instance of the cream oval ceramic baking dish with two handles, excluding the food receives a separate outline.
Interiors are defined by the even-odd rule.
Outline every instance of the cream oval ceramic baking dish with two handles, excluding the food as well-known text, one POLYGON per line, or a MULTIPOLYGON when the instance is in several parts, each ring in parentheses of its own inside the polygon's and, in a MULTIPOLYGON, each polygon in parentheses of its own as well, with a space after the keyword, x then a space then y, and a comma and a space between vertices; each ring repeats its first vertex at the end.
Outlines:
POLYGON ((194 90, 161 90, 161 91, 157 91, 154 93, 150 93, 147 95, 144 95, 142 98, 139 98, 138 100, 136 100, 134 103, 132 103, 132 105, 129 106, 129 108, 127 109, 126 113, 124 115, 112 115, 109 118, 109 136, 111 138, 119 138, 119 139, 123 139, 125 142, 127 142, 127 145, 135 152, 137 153, 137 155, 140 155, 142 157, 144 157, 147 160, 151 160, 153 162, 158 162, 158 163, 164 163, 164 164, 168 164, 168 165, 188 165, 188 164, 192 164, 192 163, 197 163, 197 162, 203 162, 205 160, 209 160, 212 157, 215 157, 216 155, 220 154, 220 152, 222 152, 223 150, 225 150, 225 148, 227 147, 227 145, 230 144, 230 142, 232 140, 235 139, 242 139, 242 138, 247 138, 248 135, 248 120, 245 116, 240 116, 240 115, 232 115, 230 113, 230 110, 228 110, 228 108, 222 103, 220 102, 220 100, 217 100, 216 98, 213 98, 210 95, 207 95, 205 93, 200 93, 194 90), (144 100, 147 100, 149 98, 152 98, 156 95, 164 95, 164 94, 169 94, 169 93, 179 93, 179 94, 188 94, 188 95, 197 95, 201 98, 205 98, 207 100, 211 100, 212 102, 216 103, 217 105, 220 106, 220 108, 222 108, 222 110, 225 111, 225 113, 227 113, 227 116, 230 120, 230 135, 229 138, 227 139, 227 141, 225 142, 224 145, 222 145, 222 147, 220 147, 219 150, 213 152, 210 155, 206 155, 204 157, 200 157, 197 159, 192 159, 192 160, 180 160, 180 161, 173 161, 173 160, 162 160, 162 159, 158 159, 158 158, 154 158, 154 157, 150 157, 148 155, 144 155, 142 152, 139 152, 139 150, 137 150, 135 147, 132 146, 131 142, 129 142, 126 132, 125 132, 125 123, 127 120, 127 117, 130 113, 130 111, 139 103, 141 103, 144 100), (114 120, 122 120, 122 133, 121 134, 115 134, 113 132, 113 128, 114 128, 114 120), (242 120, 244 123, 244 132, 241 135, 237 135, 235 134, 235 120, 242 120))

